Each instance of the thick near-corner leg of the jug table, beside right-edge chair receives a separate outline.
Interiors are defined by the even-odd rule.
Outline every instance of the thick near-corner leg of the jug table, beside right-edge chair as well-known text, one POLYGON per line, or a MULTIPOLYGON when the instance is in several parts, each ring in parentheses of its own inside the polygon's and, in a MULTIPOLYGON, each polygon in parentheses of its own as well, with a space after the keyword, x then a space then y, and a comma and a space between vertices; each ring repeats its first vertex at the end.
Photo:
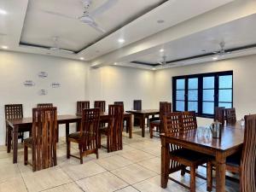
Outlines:
POLYGON ((216 192, 225 191, 226 158, 222 154, 216 155, 216 192))

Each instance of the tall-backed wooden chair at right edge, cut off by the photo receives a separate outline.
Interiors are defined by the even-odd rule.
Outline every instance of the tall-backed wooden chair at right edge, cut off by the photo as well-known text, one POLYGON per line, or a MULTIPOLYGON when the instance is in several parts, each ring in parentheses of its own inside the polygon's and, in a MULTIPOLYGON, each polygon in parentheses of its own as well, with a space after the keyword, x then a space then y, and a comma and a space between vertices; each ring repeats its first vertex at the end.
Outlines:
MULTIPOLYGON (((241 152, 226 159, 226 171, 240 174, 240 192, 256 192, 256 114, 246 115, 241 152)), ((212 160, 212 164, 216 162, 212 160)), ((211 168, 212 168, 211 164, 211 168)), ((207 189, 212 190, 212 169, 207 172, 207 189)))

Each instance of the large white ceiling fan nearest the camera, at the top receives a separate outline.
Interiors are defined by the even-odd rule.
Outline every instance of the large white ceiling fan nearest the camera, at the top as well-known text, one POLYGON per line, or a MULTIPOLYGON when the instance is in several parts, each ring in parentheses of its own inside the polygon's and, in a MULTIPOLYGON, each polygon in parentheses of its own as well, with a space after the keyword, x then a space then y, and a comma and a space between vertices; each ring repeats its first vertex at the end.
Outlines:
POLYGON ((50 15, 58 15, 68 19, 79 20, 79 22, 82 22, 88 26, 93 27, 94 29, 96 29, 96 31, 104 33, 106 31, 96 22, 95 17, 97 15, 101 15, 103 12, 110 9, 115 3, 117 3, 117 1, 118 0, 108 0, 106 3, 103 3, 102 6, 90 12, 89 9, 90 9, 92 0, 82 0, 83 6, 84 6, 84 13, 78 17, 72 17, 69 15, 55 13, 47 10, 41 10, 41 11, 50 15))

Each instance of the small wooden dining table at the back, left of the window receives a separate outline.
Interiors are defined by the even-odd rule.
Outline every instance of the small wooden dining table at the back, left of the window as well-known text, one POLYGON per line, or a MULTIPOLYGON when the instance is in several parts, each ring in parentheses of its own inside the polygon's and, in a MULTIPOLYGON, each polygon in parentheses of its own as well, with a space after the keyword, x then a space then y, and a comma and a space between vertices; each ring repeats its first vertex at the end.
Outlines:
POLYGON ((127 113, 132 113, 134 116, 137 116, 140 119, 140 127, 142 129, 142 137, 145 137, 145 119, 148 118, 149 115, 159 114, 159 109, 143 109, 143 110, 128 110, 127 113))

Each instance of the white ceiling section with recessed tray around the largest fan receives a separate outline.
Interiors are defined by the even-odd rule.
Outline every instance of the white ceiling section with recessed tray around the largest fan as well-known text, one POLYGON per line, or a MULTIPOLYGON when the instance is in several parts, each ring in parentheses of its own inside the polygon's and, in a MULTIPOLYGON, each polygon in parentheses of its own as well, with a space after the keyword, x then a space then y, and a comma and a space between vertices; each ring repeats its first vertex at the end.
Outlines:
MULTIPOLYGON (((7 15, 0 15, 0 47, 9 46, 9 50, 66 57, 90 61, 101 55, 122 48, 147 38, 154 33, 177 25, 230 3, 233 0, 169 0, 159 7, 141 15, 116 32, 83 49, 87 44, 101 38, 102 34, 79 23, 77 20, 49 15, 42 10, 53 11, 70 16, 79 16, 83 12, 80 0, 0 0, 0 9, 7 15), (200 6, 195 6, 200 4, 200 6), (165 20, 157 24, 157 20, 165 20), (21 35, 22 32, 22 35, 21 35), (20 41, 26 44, 53 46, 52 37, 59 37, 59 46, 63 49, 79 50, 79 54, 68 54, 34 47, 20 46, 20 41), (118 39, 125 38, 125 44, 119 44, 118 39)), ((93 0, 91 10, 105 3, 106 0, 93 0)), ((163 0, 119 0, 111 9, 99 15, 96 21, 101 23, 107 32, 123 24, 126 20, 136 17, 144 10, 156 6, 163 0)))

